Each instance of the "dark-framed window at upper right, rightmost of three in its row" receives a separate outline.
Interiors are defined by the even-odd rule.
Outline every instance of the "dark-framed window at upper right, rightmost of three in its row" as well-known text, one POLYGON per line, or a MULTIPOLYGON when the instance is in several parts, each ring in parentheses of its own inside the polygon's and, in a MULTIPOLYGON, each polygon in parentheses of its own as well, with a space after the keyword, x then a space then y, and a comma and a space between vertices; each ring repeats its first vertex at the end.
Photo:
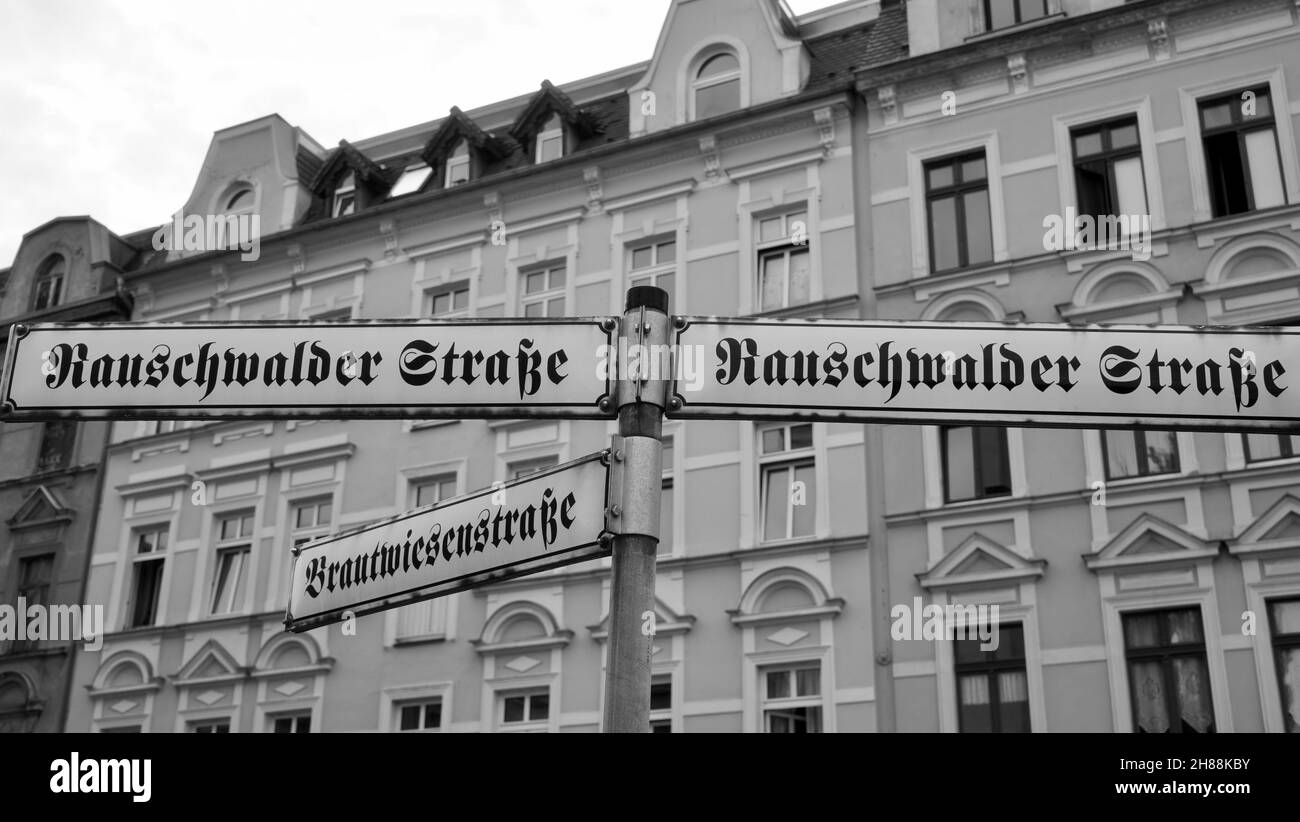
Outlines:
POLYGON ((1197 103, 1216 217, 1287 202, 1268 86, 1197 103))

